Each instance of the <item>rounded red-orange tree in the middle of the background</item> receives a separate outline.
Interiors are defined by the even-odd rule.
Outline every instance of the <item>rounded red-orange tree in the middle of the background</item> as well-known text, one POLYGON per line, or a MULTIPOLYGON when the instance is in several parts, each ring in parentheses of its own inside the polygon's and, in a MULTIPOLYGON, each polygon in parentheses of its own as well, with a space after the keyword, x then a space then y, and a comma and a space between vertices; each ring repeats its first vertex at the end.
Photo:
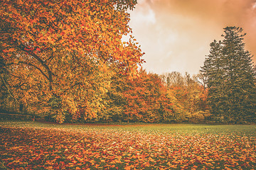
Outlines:
POLYGON ((127 117, 139 118, 146 123, 174 121, 172 103, 166 96, 166 89, 157 74, 146 73, 144 69, 139 77, 128 82, 124 91, 127 105, 124 106, 127 117))

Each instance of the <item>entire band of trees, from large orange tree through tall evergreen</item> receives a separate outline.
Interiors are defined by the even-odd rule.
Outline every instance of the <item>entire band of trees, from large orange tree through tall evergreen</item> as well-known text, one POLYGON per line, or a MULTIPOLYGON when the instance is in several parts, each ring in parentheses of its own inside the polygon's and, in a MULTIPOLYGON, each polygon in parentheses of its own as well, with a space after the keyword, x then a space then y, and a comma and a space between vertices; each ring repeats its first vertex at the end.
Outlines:
POLYGON ((3 0, 1 110, 63 122, 252 123, 255 69, 225 28, 198 75, 147 73, 130 36, 134 0, 3 0))

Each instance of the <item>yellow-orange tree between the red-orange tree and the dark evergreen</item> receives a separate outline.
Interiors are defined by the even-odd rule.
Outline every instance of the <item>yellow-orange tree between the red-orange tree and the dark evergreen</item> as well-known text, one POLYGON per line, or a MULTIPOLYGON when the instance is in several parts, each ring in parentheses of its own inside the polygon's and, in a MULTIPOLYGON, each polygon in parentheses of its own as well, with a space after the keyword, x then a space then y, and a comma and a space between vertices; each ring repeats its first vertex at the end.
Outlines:
POLYGON ((173 103, 176 122, 202 123, 210 116, 207 91, 198 83, 199 75, 171 72, 161 75, 167 96, 173 103))

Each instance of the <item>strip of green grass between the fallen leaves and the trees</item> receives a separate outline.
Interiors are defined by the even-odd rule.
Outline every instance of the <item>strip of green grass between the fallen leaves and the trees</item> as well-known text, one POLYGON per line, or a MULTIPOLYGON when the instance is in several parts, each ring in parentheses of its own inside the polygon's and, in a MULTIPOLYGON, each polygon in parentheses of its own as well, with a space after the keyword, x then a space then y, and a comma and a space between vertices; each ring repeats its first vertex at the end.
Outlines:
POLYGON ((4 121, 0 126, 26 128, 60 128, 70 130, 113 129, 182 133, 242 133, 256 135, 256 125, 197 125, 197 124, 58 124, 31 121, 4 121))

